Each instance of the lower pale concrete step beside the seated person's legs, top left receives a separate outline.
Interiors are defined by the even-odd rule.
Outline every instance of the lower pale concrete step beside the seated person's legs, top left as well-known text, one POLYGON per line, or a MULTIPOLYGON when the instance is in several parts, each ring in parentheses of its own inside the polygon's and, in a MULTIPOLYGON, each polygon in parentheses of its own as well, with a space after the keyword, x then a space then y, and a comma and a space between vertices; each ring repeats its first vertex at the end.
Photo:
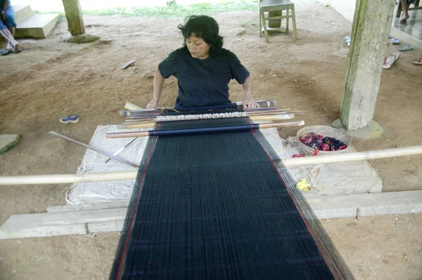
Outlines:
POLYGON ((45 38, 56 26, 59 17, 58 13, 32 15, 32 17, 18 24, 16 37, 45 38))

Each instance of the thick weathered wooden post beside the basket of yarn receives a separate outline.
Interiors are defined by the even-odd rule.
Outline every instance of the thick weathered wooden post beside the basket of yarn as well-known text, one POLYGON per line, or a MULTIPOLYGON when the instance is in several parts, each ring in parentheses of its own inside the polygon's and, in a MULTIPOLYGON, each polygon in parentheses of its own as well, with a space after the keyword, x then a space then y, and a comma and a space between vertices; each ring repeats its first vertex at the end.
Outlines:
POLYGON ((371 124, 396 0, 357 0, 340 120, 348 131, 371 124))

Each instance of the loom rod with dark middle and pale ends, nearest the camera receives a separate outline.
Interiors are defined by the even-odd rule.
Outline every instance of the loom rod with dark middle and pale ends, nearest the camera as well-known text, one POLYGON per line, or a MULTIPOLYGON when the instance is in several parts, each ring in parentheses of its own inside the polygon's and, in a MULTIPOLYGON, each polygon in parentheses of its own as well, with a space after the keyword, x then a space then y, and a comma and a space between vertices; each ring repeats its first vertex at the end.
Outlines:
POLYGON ((139 136, 162 136, 162 135, 181 135, 181 134, 198 134, 213 132, 233 132, 233 131, 253 131, 260 128, 277 128, 282 126, 303 126, 305 121, 290 121, 281 124, 242 124, 238 126, 216 126, 205 128, 186 128, 186 129, 166 129, 161 131, 139 131, 139 132, 122 132, 107 133, 107 138, 129 138, 139 136))

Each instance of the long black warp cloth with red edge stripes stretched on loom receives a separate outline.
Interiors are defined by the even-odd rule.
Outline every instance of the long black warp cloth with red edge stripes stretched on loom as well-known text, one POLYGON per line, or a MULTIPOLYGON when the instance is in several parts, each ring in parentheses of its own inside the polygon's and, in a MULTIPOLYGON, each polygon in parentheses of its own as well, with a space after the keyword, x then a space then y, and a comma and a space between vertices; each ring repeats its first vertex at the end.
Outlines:
POLYGON ((279 164, 260 131, 151 137, 110 279, 352 279, 279 164))

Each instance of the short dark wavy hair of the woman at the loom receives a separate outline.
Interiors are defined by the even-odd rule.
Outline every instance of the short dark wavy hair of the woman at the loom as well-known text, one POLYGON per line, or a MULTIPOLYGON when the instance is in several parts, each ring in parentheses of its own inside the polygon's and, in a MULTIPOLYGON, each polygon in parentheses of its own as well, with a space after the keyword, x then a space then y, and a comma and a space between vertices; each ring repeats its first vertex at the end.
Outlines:
POLYGON ((223 37, 219 36, 219 27, 214 18, 207 15, 191 15, 186 18, 185 25, 179 25, 184 36, 183 46, 186 47, 186 40, 195 35, 210 45, 210 56, 215 56, 223 47, 223 37))

